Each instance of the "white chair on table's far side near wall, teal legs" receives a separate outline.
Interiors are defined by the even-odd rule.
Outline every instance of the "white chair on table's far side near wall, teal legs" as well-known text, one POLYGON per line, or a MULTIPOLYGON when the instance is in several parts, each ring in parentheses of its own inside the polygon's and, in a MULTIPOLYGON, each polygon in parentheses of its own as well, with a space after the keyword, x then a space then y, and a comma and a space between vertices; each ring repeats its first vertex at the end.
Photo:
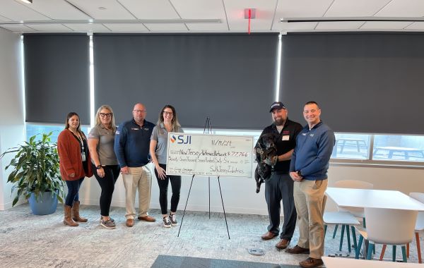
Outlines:
MULTIPOLYGON (((346 180, 346 181, 336 181, 334 184, 336 188, 355 188, 355 189, 372 189, 374 185, 367 183, 365 181, 355 181, 355 180, 346 180)), ((360 224, 358 219, 355 217, 363 218, 363 224, 365 224, 364 209, 355 208, 355 207, 337 207, 338 212, 325 212, 324 213, 324 224, 325 231, 326 226, 329 224, 335 224, 333 238, 336 237, 336 232, 338 224, 341 224, 341 236, 340 236, 340 245, 338 250, 341 250, 343 245, 343 236, 346 228, 346 237, 348 240, 348 251, 351 252, 351 235, 349 233, 349 226, 352 229, 352 238, 353 238, 353 247, 356 248, 356 233, 355 225, 360 224)))

